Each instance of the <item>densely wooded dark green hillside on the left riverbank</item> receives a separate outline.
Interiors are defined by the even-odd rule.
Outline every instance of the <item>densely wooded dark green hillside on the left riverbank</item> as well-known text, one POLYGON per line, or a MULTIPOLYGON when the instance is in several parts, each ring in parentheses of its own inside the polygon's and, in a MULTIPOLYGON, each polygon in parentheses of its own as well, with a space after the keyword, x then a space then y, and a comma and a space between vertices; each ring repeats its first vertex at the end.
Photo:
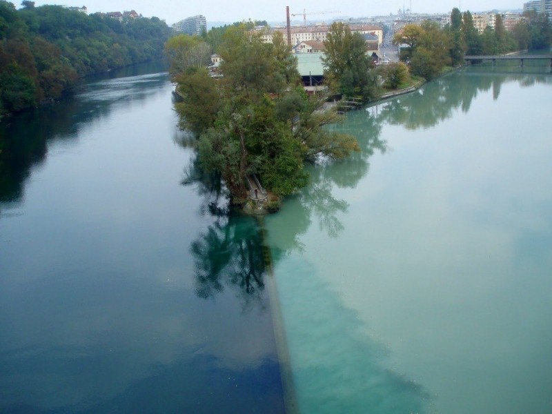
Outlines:
POLYGON ((159 59, 170 28, 157 17, 119 21, 61 6, 0 0, 0 116, 57 99, 77 79, 159 59))

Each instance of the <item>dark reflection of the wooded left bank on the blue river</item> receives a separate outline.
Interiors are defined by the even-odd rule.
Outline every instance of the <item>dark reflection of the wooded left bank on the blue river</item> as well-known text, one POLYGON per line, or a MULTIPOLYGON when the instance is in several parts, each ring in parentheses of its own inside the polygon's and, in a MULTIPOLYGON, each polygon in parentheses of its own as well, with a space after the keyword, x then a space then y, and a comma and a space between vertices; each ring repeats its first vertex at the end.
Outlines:
POLYGON ((81 126, 109 117, 115 105, 130 106, 159 93, 165 73, 140 75, 157 67, 163 66, 137 66, 134 78, 116 78, 120 72, 114 71, 109 74, 114 79, 88 83, 76 97, 0 122, 0 202, 8 207, 21 201, 30 171, 46 160, 48 141, 75 141, 81 126))

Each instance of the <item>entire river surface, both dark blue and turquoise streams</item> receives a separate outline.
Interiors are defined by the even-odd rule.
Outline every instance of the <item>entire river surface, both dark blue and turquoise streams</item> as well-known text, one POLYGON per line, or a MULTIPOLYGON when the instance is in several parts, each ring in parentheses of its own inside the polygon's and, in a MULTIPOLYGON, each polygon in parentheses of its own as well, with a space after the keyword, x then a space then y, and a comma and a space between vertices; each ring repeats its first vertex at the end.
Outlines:
POLYGON ((261 220, 197 172, 158 68, 3 122, 0 412, 552 412, 538 72, 348 113, 362 151, 261 220))

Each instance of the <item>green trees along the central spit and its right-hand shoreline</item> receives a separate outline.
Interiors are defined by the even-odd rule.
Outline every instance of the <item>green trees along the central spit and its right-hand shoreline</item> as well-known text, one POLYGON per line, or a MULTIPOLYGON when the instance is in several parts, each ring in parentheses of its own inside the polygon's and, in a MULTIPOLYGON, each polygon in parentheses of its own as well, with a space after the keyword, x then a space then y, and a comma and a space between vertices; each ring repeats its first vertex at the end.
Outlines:
POLYGON ((497 15, 495 28, 480 34, 471 13, 454 8, 444 28, 431 21, 404 26, 393 37, 402 45, 400 61, 375 66, 362 35, 333 23, 322 58, 328 94, 315 97, 306 95, 282 34, 263 43, 252 31, 259 23, 266 26, 249 21, 201 37, 179 34, 165 46, 181 98, 175 105, 179 125, 197 138, 196 161, 204 179, 221 180, 230 204, 251 215, 279 210, 286 196, 308 185, 306 163, 339 161, 359 150, 354 137, 324 128, 343 120, 337 99, 344 99, 344 110, 359 108, 417 90, 462 67, 466 54, 499 55, 551 43, 547 19, 534 12, 512 33, 497 15), (205 69, 212 53, 221 58, 216 77, 205 69), (257 199, 257 190, 252 195, 249 177, 262 183, 266 197, 257 199))

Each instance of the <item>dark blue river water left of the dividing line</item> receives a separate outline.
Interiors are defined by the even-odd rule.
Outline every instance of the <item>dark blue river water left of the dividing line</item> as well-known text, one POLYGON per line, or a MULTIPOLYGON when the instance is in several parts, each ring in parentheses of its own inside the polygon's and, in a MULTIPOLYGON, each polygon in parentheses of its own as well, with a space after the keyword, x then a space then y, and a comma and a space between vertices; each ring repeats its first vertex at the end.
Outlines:
POLYGON ((1 413, 284 411, 259 227, 155 70, 0 124, 1 413))

